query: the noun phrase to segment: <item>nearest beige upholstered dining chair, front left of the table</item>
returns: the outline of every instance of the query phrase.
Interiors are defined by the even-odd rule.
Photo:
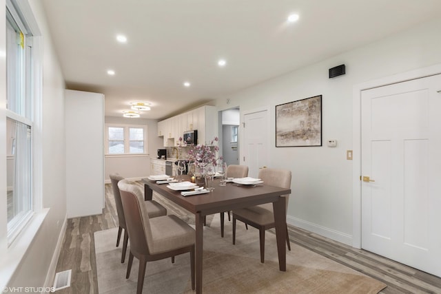
[[[143,292],[145,266],[147,262],[190,253],[190,271],[194,290],[194,242],[196,232],[192,227],[174,215],[150,218],[144,205],[143,191],[136,185],[123,180],[118,183],[125,222],[130,238],[127,274],[130,277],[133,258],[139,260],[138,284],[136,293]]]

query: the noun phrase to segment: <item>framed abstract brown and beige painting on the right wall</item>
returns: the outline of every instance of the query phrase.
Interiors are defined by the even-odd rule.
[[[322,95],[276,105],[276,147],[322,146]]]

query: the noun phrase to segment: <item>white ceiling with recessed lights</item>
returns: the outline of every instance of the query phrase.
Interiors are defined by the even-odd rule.
[[[165,118],[439,17],[440,0],[43,0],[67,87]],[[297,13],[296,23],[286,22]],[[127,43],[116,42],[125,34]],[[218,59],[227,61],[218,67]],[[337,65],[337,64],[336,64]],[[115,70],[114,76],[106,74]],[[183,87],[189,81],[191,87]]]

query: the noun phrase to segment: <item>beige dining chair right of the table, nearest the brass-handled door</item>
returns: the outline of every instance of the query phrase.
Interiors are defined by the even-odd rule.
[[[291,171],[287,169],[260,169],[258,178],[263,180],[266,185],[289,189],[291,187]],[[288,208],[289,194],[283,195],[286,198],[285,218]],[[236,244],[236,220],[245,222],[259,230],[260,235],[260,262],[265,260],[265,231],[275,227],[273,204],[266,203],[254,207],[245,207],[233,210],[233,244]],[[286,227],[286,237],[288,250],[291,251],[289,244],[288,227]]]

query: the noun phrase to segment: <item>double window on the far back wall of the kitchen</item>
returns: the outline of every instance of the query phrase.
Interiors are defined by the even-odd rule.
[[[147,127],[107,125],[107,154],[146,154]]]

